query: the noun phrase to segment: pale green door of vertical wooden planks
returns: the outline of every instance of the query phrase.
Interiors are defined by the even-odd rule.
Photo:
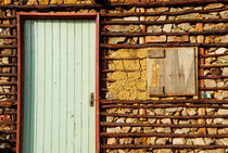
[[[94,153],[96,21],[26,20],[23,153]]]

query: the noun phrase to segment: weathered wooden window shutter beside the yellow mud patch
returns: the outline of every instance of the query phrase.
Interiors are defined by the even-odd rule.
[[[148,50],[150,97],[195,95],[195,48]]]

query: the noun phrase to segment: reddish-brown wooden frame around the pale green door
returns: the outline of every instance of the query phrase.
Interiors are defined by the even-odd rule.
[[[17,13],[17,122],[16,153],[22,153],[23,142],[23,93],[24,93],[24,21],[25,20],[96,20],[96,153],[100,152],[99,110],[99,13]]]

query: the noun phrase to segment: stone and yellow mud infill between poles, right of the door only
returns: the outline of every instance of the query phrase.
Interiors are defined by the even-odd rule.
[[[227,7],[223,3],[207,4],[205,7],[183,7],[183,8],[148,8],[145,12],[182,12],[187,10],[208,10],[208,9],[219,9]],[[122,12],[140,12],[140,9],[132,8],[130,10],[112,10],[110,13],[122,13]],[[210,20],[210,18],[227,18],[228,11],[212,12],[212,13],[189,13],[183,15],[157,15],[157,16],[147,16],[145,21],[177,21],[177,20]],[[140,21],[140,17],[130,16],[124,18],[112,18],[111,21]],[[208,30],[226,30],[228,24],[226,23],[212,23],[203,24],[201,28],[199,23],[180,23],[180,24],[164,24],[164,25],[152,25],[147,26],[145,31],[148,33],[190,33],[190,31],[208,31]],[[141,25],[107,25],[105,30],[110,33],[140,33],[142,31]],[[137,44],[140,43],[139,37],[110,37],[109,43],[111,44]],[[203,41],[199,39],[199,36],[147,36],[145,43],[150,42],[228,42],[228,35],[205,35]],[[109,69],[116,69],[116,72],[107,73],[106,78],[113,80],[114,82],[106,82],[106,95],[107,100],[175,100],[175,99],[199,99],[200,95],[195,97],[165,97],[165,98],[150,98],[148,95],[147,87],[147,50],[145,49],[118,49],[112,50],[109,49],[105,58],[114,59],[126,59],[126,58],[136,58],[137,60],[110,60],[107,61],[106,67]],[[228,53],[227,48],[204,48],[205,54],[219,54]],[[200,55],[200,53],[199,53]],[[205,64],[227,64],[228,55],[218,56],[218,58],[207,58],[204,60]],[[125,71],[135,71],[135,72],[122,72],[118,69]],[[227,66],[225,67],[210,67],[204,68],[204,76],[215,77],[215,76],[227,76]],[[214,88],[214,87],[228,87],[228,79],[205,79],[204,87]],[[227,90],[217,90],[217,91],[204,91],[206,95],[211,99],[216,100],[228,100]],[[203,93],[202,93],[203,94]],[[205,95],[205,94],[204,94]],[[152,103],[151,103],[152,104]],[[122,104],[119,104],[122,105]],[[138,105],[138,103],[135,103]],[[188,105],[188,104],[187,104]],[[189,103],[191,105],[191,103]],[[224,106],[226,104],[223,104]],[[170,116],[198,116],[202,115],[200,107],[172,107],[172,109],[106,109],[107,113],[117,113],[117,114],[131,114],[131,115],[170,115]],[[228,110],[226,109],[205,109],[205,115],[227,115]],[[118,117],[118,116],[106,116],[107,123],[136,123],[136,124],[174,124],[174,125],[197,125],[202,124],[201,119],[154,119],[154,118],[128,118],[128,117]],[[208,125],[226,125],[226,118],[207,118],[205,119]],[[223,135],[228,133],[227,128],[205,128],[205,135]],[[202,133],[201,128],[173,128],[173,127],[107,127],[106,132],[130,132],[130,133],[183,133],[183,135],[195,135]],[[188,145],[227,145],[228,139],[215,139],[215,138],[159,138],[159,137],[141,137],[141,138],[107,138],[107,144],[144,144],[144,145],[160,145],[160,144],[188,144]],[[142,149],[142,150],[107,150],[112,153],[145,153],[145,152],[156,152],[156,153],[172,153],[172,152],[181,152],[181,153],[225,153],[225,150],[188,150],[188,149]]]

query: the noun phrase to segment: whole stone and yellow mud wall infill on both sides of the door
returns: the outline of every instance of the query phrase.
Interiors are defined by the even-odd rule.
[[[152,2],[155,0],[110,0],[110,2]],[[162,1],[162,0],[156,0]],[[169,0],[163,0],[169,1]],[[178,1],[178,0],[177,0]],[[61,3],[93,3],[92,0],[2,0],[1,4],[61,4]],[[227,8],[225,3],[211,3],[202,7],[151,7],[147,8],[145,12],[182,12],[188,10],[210,10],[210,9],[223,9]],[[88,13],[96,12],[97,10],[73,10],[72,13]],[[123,12],[140,12],[140,8],[112,8],[107,10],[107,13],[123,13]],[[35,11],[36,12],[36,11]],[[67,12],[62,10],[61,12]],[[53,12],[52,12],[53,13]],[[1,16],[13,16],[12,10],[0,10]],[[228,18],[228,10],[215,11],[211,13],[187,13],[183,15],[153,15],[147,16],[145,21],[177,21],[177,20],[211,20],[211,18]],[[141,16],[129,16],[129,17],[112,17],[107,18],[109,21],[140,21]],[[1,24],[12,24],[12,20],[2,20]],[[144,29],[142,25],[105,25],[101,29],[106,33],[141,33]],[[191,33],[191,31],[216,31],[216,30],[227,30],[227,23],[210,23],[203,24],[201,29],[201,24],[199,23],[180,23],[180,24],[164,24],[164,25],[149,25],[145,26],[145,33]],[[0,28],[0,35],[13,35],[13,28]],[[228,35],[205,35],[203,37],[203,42],[213,43],[213,42],[228,42]],[[142,37],[102,37],[101,42],[109,44],[138,44]],[[185,36],[144,36],[144,43],[173,43],[173,42],[189,42],[197,43],[201,40],[199,35],[185,35]],[[0,39],[1,46],[13,46],[16,39]],[[165,98],[150,98],[148,95],[147,87],[147,49],[101,49],[101,71],[110,69],[109,73],[101,73],[101,95],[104,100],[192,100],[200,99],[200,95],[194,97],[165,97]],[[200,50],[200,48],[199,48]],[[0,54],[5,56],[0,58],[0,65],[12,63],[12,54],[14,49],[0,49]],[[205,54],[226,54],[228,53],[228,48],[204,48]],[[116,59],[116,60],[102,60],[106,59]],[[126,60],[132,58],[136,60]],[[123,60],[118,60],[123,59]],[[206,65],[216,65],[216,64],[228,64],[228,55],[223,56],[213,56],[206,58],[204,60]],[[116,72],[115,72],[116,69]],[[119,71],[123,69],[123,71]],[[129,72],[124,72],[129,71]],[[8,93],[12,92],[12,86],[3,85],[12,81],[12,67],[0,66],[0,101],[10,101],[11,95]],[[204,76],[206,77],[217,77],[217,76],[228,76],[228,66],[220,67],[206,67],[204,68]],[[112,81],[105,81],[112,80]],[[204,87],[214,88],[214,87],[228,87],[227,78],[219,79],[203,79]],[[5,93],[5,94],[3,94]],[[228,100],[227,90],[213,90],[213,91],[203,91],[206,93],[206,98],[215,100]],[[153,103],[144,104],[150,105]],[[122,107],[125,104],[118,104],[119,107],[107,107],[102,109],[101,112],[104,113],[115,113],[115,114],[128,114],[128,115],[156,115],[156,116],[177,116],[177,118],[140,118],[140,117],[122,117],[122,115],[110,115],[101,116],[101,122],[104,123],[117,123],[117,124],[150,124],[157,125],[154,127],[130,127],[130,126],[116,126],[116,127],[106,127],[101,128],[101,132],[107,133],[178,133],[178,135],[198,135],[202,133],[202,128],[191,128],[191,127],[163,127],[159,125],[198,125],[202,124],[202,119],[194,118],[194,116],[201,115],[201,107],[194,106],[190,102],[185,103],[186,106],[179,107],[162,107],[163,103],[157,104],[155,109],[130,109]],[[129,105],[129,104],[127,104]],[[135,103],[130,105],[141,105],[140,103]],[[154,104],[155,105],[155,104]],[[192,105],[190,107],[189,105]],[[161,109],[159,107],[161,106]],[[228,110],[226,106],[228,104],[213,104],[215,107],[206,107],[204,111],[205,115],[228,115]],[[224,106],[225,109],[216,109],[216,106]],[[101,105],[102,107],[102,105]],[[4,122],[11,122],[12,115],[5,115],[4,112],[15,111],[15,106],[11,107],[0,107],[0,119]],[[181,119],[181,116],[183,118]],[[189,116],[191,119],[185,118]],[[179,117],[179,118],[178,118]],[[207,125],[217,125],[218,128],[203,128],[205,135],[227,135],[228,128],[220,128],[219,125],[228,125],[227,117],[217,117],[217,118],[205,118],[203,120]],[[223,126],[221,126],[223,127]],[[0,125],[0,131],[10,131],[12,126]],[[15,136],[15,135],[14,135]],[[13,135],[9,132],[1,132],[0,140],[9,140],[0,143],[0,149],[11,149],[15,148],[15,142],[10,142],[13,139]],[[168,145],[168,144],[186,144],[186,145],[228,145],[228,138],[168,138],[168,137],[128,137],[128,138],[102,138],[102,144],[134,144],[134,145]],[[226,153],[226,149],[102,149],[104,152],[109,153]]]

